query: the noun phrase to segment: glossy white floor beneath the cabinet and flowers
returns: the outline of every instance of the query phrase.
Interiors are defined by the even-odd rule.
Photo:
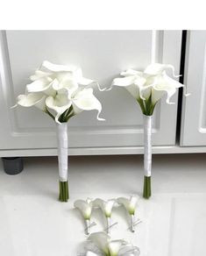
[[[125,238],[144,256],[206,255],[206,154],[153,155],[153,196],[141,197],[143,156],[80,156],[69,160],[68,203],[57,201],[55,157],[24,159],[21,174],[0,163],[0,255],[75,256],[87,236],[76,199],[139,195],[135,233],[124,209],[114,210],[112,238]],[[95,210],[91,231],[103,231]]]

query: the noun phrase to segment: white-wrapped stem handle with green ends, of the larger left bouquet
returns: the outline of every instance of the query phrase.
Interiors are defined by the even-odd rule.
[[[69,198],[67,183],[67,123],[57,124],[60,202]]]

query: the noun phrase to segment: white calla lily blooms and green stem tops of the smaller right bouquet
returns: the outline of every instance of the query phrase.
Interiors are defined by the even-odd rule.
[[[183,87],[180,82],[167,75],[167,69],[171,69],[173,76],[174,67],[160,63],[149,65],[144,72],[128,69],[121,73],[124,77],[115,78],[112,86],[116,85],[127,89],[141,107],[143,113],[147,116],[153,115],[156,103],[164,95],[167,95],[167,103],[171,104],[170,98],[174,96],[176,89]]]

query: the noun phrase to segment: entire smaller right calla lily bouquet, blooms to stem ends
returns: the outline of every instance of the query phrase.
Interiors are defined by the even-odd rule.
[[[177,89],[184,85],[177,82],[167,75],[167,70],[172,71],[174,75],[174,67],[172,65],[153,63],[149,65],[143,72],[128,69],[121,73],[121,78],[115,78],[112,86],[124,87],[129,91],[139,103],[144,115],[144,189],[143,196],[149,198],[151,196],[151,168],[152,168],[152,117],[153,110],[162,96],[167,96],[166,102],[173,104],[170,100],[174,96]],[[188,96],[188,95],[187,95]]]

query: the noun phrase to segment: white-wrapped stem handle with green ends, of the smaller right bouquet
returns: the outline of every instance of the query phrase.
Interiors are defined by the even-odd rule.
[[[144,115],[144,188],[143,197],[151,196],[151,168],[152,168],[152,116]]]

